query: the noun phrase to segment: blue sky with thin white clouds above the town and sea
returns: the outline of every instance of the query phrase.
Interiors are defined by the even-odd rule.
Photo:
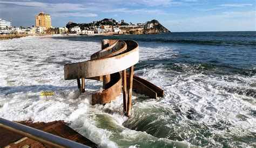
[[[0,0],[0,18],[12,26],[35,25],[41,11],[51,15],[53,27],[113,18],[135,24],[157,19],[173,32],[256,30],[255,0]]]

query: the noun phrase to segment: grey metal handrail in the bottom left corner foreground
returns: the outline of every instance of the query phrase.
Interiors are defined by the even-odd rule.
[[[4,118],[0,118],[0,127],[54,147],[89,147]]]

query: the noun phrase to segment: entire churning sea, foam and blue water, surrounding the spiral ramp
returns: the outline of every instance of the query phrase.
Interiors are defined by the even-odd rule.
[[[134,74],[165,90],[154,100],[133,92],[91,105],[102,82],[64,80],[63,65],[90,59],[102,39],[132,39]],[[123,36],[48,36],[0,40],[0,117],[64,120],[102,147],[255,147],[256,32],[180,32]],[[52,97],[41,91],[55,91]]]

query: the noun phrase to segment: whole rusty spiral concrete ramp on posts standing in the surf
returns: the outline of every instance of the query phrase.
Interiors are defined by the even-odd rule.
[[[134,40],[102,40],[102,50],[91,55],[91,60],[64,65],[64,79],[77,79],[84,92],[84,79],[103,81],[103,91],[92,95],[93,104],[105,104],[120,95],[123,86],[124,112],[131,114],[132,88],[152,98],[164,95],[164,90],[138,76],[133,77],[133,66],[139,61],[138,43]],[[126,75],[126,69],[130,74]],[[126,83],[127,81],[127,83]],[[128,93],[126,91],[128,87]],[[127,99],[128,98],[128,99]]]

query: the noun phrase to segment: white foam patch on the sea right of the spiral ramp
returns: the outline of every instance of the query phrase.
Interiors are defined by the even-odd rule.
[[[187,72],[187,74],[176,75],[177,72],[162,71],[158,68],[140,69],[139,73],[143,73],[145,79],[165,89],[164,99],[162,98],[157,104],[163,105],[166,108],[178,107],[181,114],[184,115],[184,119],[187,118],[186,115],[190,114],[192,110],[192,118],[197,124],[211,127],[220,123],[226,126],[224,130],[212,128],[212,133],[221,135],[221,137],[225,137],[227,134],[252,136],[251,132],[256,131],[256,119],[255,115],[253,115],[255,114],[253,111],[256,109],[255,96],[236,93],[239,90],[255,90],[256,88],[253,86],[256,82],[255,76],[224,76],[228,77],[228,79],[237,80],[230,81],[223,76],[211,76],[200,73],[190,74],[190,72]],[[236,91],[229,92],[229,89]],[[146,105],[141,103],[139,107],[142,107],[142,104]],[[146,106],[145,108],[150,107]],[[178,129],[180,125],[173,126]],[[191,131],[186,130],[185,135],[187,133],[193,135],[193,129]],[[192,141],[189,140],[190,143]],[[213,139],[211,141],[216,146],[221,146],[220,143],[215,142]],[[230,143],[235,142],[231,139]],[[245,145],[245,143],[241,143],[240,146]],[[230,144],[229,146],[235,145]]]

